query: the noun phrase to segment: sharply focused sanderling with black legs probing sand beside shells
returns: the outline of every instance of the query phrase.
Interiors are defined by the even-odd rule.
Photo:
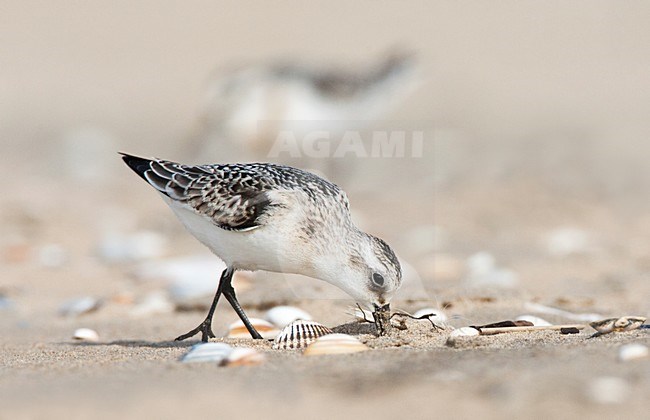
[[[231,285],[235,270],[302,274],[343,289],[374,308],[377,329],[389,326],[390,299],[402,272],[383,240],[359,230],[345,192],[300,169],[269,163],[189,166],[122,154],[161,193],[176,216],[227,268],[205,320],[176,338],[214,337],[212,317],[223,294],[253,338]]]

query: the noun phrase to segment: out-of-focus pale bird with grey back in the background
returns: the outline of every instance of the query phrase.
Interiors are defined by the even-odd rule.
[[[417,82],[415,56],[403,50],[363,69],[285,62],[222,70],[207,86],[193,146],[201,155],[232,146],[247,156],[266,157],[280,131],[362,129],[394,108]]]

